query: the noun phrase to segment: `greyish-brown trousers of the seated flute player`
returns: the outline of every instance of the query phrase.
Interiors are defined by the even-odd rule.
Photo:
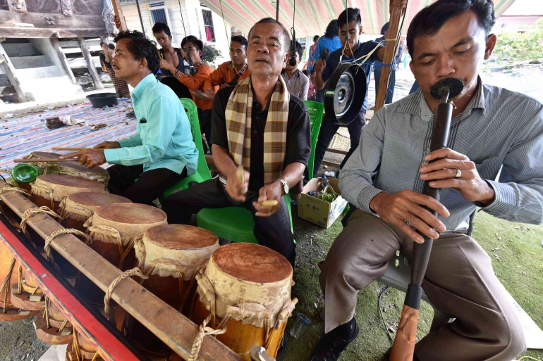
[[[355,210],[319,265],[325,332],[353,318],[358,291],[383,276],[398,249],[410,256],[413,241],[379,217]],[[434,241],[422,288],[434,307],[456,319],[417,343],[420,360],[512,360],[525,350],[508,293],[470,236],[446,232]]]

